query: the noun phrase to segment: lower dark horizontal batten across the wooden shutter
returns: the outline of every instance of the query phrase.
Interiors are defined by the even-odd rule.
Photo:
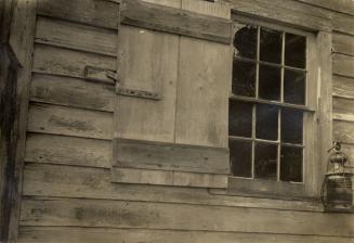
[[[114,140],[114,166],[189,172],[230,172],[228,150],[131,139]]]

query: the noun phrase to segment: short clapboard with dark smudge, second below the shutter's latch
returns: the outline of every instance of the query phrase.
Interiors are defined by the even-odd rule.
[[[113,138],[113,114],[65,106],[32,103],[28,131],[73,137]]]

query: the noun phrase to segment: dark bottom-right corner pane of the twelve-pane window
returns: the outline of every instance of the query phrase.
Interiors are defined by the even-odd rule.
[[[280,180],[302,182],[302,148],[281,146]]]

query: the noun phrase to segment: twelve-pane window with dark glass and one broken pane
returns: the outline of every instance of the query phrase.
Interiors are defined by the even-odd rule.
[[[234,33],[232,174],[303,182],[307,38],[241,23]]]

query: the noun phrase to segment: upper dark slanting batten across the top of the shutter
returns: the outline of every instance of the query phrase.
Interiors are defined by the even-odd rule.
[[[123,0],[121,2],[120,22],[126,25],[227,44],[232,40],[231,20],[140,0]]]

